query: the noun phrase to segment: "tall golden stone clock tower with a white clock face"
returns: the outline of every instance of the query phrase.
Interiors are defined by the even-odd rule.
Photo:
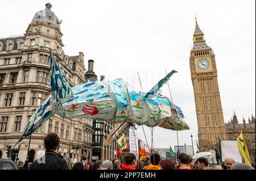
[[[200,151],[216,149],[219,140],[225,140],[225,123],[218,89],[215,55],[200,30],[197,20],[190,53],[190,71],[193,84]]]

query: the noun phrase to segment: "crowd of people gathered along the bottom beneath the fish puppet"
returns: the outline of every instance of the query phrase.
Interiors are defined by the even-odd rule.
[[[29,169],[31,170],[253,170],[255,165],[251,167],[246,163],[235,163],[234,159],[226,158],[222,166],[216,166],[208,163],[206,158],[198,158],[194,160],[190,155],[180,153],[178,161],[171,159],[161,160],[158,153],[151,154],[149,161],[138,160],[133,153],[127,153],[121,158],[113,161],[105,160],[101,162],[96,160],[94,163],[88,163],[86,157],[82,157],[80,162],[75,162],[69,168],[63,156],[57,153],[60,145],[60,139],[55,133],[48,134],[44,138],[44,146],[46,153],[44,162],[41,158],[36,159]],[[39,161],[38,161],[39,160]]]

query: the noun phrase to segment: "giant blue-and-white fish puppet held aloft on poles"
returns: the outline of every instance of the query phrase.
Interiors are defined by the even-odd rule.
[[[87,117],[97,120],[163,127],[175,131],[189,129],[183,120],[181,109],[166,96],[158,93],[172,74],[172,70],[160,80],[149,92],[144,93],[123,81],[87,82],[79,86],[69,86],[51,53],[50,82],[52,96],[36,110],[28,120],[19,141],[34,133],[54,113],[69,119]]]

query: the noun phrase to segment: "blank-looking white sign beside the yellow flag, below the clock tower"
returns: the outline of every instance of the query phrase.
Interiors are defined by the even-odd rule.
[[[237,140],[221,140],[221,159],[224,162],[226,158],[233,158],[235,162],[242,163]]]

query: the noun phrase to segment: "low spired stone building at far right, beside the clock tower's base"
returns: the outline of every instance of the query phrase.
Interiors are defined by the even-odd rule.
[[[253,115],[251,115],[251,119],[248,117],[248,123],[246,123],[243,117],[242,122],[243,123],[238,123],[237,115],[234,112],[233,117],[228,123],[225,123],[226,135],[228,140],[236,140],[242,131],[251,161],[255,161],[255,117]]]

